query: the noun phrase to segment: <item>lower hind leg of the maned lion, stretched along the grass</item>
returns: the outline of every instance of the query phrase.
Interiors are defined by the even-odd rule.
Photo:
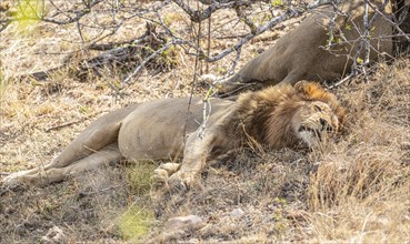
[[[20,185],[43,186],[53,182],[61,182],[67,177],[88,170],[94,170],[111,162],[117,163],[121,157],[120,150],[117,143],[114,143],[64,167],[53,167],[52,164],[48,164],[44,167],[40,166],[29,171],[17,172],[4,177],[2,186],[7,189],[14,189]]]

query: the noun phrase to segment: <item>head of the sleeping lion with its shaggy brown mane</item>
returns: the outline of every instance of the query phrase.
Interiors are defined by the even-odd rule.
[[[340,132],[346,114],[332,93],[307,81],[246,93],[238,103],[247,134],[271,148],[316,148]]]

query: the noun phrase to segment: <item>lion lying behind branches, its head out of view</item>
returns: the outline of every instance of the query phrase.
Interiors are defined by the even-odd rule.
[[[384,11],[391,12],[388,7]],[[338,10],[344,14],[338,16],[332,23],[333,7],[320,7],[273,47],[249,61],[236,74],[222,80],[218,85],[219,92],[229,94],[252,83],[263,87],[294,84],[300,80],[337,81],[349,73],[358,49],[361,49],[361,55],[356,61],[364,60],[364,47],[360,48],[360,35],[364,29],[363,1],[344,1],[338,6]],[[369,8],[369,20],[373,16],[374,11]],[[391,34],[389,20],[377,16],[369,33],[371,61],[392,55]]]

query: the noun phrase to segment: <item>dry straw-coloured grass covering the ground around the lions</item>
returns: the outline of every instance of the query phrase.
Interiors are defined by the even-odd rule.
[[[187,21],[170,12],[176,26]],[[143,32],[144,23],[131,27]],[[1,173],[51,161],[104,112],[191,91],[194,60],[178,50],[174,69],[146,70],[122,96],[110,87],[119,79],[112,73],[87,82],[64,72],[46,82],[13,79],[78,50],[69,28],[41,23],[21,30],[16,24],[0,33]],[[127,39],[127,30],[122,33]],[[277,35],[247,45],[239,65]],[[229,44],[214,40],[212,49]],[[230,59],[212,64],[211,72],[229,69]],[[349,125],[321,152],[246,150],[207,167],[186,194],[151,187],[153,162],[110,165],[44,189],[6,192],[0,196],[0,242],[39,242],[53,226],[63,231],[67,243],[159,242],[167,241],[161,230],[169,217],[197,214],[203,225],[179,241],[410,243],[410,62],[381,63],[367,83],[359,78],[334,92],[349,108]]]

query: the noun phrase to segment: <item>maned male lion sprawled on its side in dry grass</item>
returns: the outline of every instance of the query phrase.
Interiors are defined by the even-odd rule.
[[[317,148],[343,124],[344,108],[319,84],[271,87],[236,101],[173,98],[132,104],[92,122],[51,163],[8,175],[2,185],[43,186],[121,160],[173,160],[154,172],[171,185],[192,186],[207,161],[258,143],[267,149]],[[189,108],[189,111],[187,111]]]

